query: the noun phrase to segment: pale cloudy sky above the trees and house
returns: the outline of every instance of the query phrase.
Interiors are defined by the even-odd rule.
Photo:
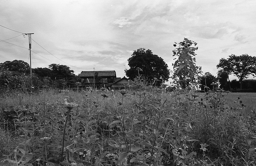
[[[188,38],[198,43],[196,65],[216,76],[221,58],[256,56],[255,13],[256,0],[2,0],[0,63],[30,64],[24,34],[34,33],[32,68],[62,64],[76,75],[115,70],[122,78],[138,48],[172,70],[173,44]]]

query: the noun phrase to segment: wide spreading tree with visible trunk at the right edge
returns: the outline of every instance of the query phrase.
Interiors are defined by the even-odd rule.
[[[248,78],[251,74],[256,76],[256,57],[249,56],[248,54],[240,56],[231,54],[227,59],[221,58],[217,68],[221,68],[228,75],[234,74],[237,76],[240,82],[240,89],[242,89],[242,81],[245,78]]]

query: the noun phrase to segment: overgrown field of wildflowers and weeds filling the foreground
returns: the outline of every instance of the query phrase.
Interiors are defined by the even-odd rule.
[[[3,94],[0,160],[20,166],[255,166],[255,101],[255,93],[152,87]]]

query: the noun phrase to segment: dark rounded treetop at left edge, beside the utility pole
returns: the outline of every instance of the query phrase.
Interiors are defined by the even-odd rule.
[[[4,63],[0,63],[0,68],[22,74],[30,73],[29,64],[23,60],[5,61]]]

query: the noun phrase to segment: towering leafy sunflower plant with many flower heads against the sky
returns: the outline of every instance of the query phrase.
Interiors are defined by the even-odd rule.
[[[192,46],[194,44],[194,46]],[[176,47],[178,45],[178,47]],[[201,72],[201,67],[196,66],[196,56],[195,51],[198,49],[196,47],[197,43],[184,38],[182,42],[173,44],[176,47],[173,52],[173,56],[178,56],[174,64],[172,64],[174,69],[173,78],[178,80],[179,84],[186,88],[190,85],[197,85],[198,74]]]

